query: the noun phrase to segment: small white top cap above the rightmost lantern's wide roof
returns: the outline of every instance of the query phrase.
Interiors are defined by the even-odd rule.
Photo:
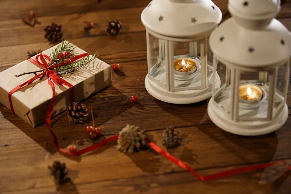
[[[229,0],[228,10],[232,15],[245,18],[260,18],[271,15],[274,18],[280,11],[278,0]]]

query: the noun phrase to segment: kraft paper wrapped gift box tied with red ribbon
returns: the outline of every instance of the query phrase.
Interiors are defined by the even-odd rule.
[[[56,47],[57,45],[43,51],[42,54],[50,56]],[[75,46],[74,53],[83,54],[86,52]],[[35,58],[36,56],[32,57],[32,59]],[[20,77],[15,77],[15,75],[41,69],[43,67],[25,60],[2,71],[0,73],[0,102],[10,108],[8,93],[13,88],[34,77],[34,74],[22,75]],[[111,66],[95,58],[81,69],[62,75],[62,78],[74,86],[75,101],[79,102],[112,84]],[[52,116],[66,110],[71,103],[69,87],[55,83],[54,86],[56,95]],[[12,104],[15,114],[33,127],[37,127],[45,122],[51,98],[52,88],[48,83],[47,77],[44,77],[42,80],[37,79],[32,84],[13,93]]]

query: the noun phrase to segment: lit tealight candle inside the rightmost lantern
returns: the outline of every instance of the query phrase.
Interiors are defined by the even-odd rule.
[[[240,102],[256,103],[262,99],[263,91],[256,85],[245,84],[239,88]]]

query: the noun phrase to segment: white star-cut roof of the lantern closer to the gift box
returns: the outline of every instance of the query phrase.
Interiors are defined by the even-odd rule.
[[[211,0],[152,0],[141,13],[147,29],[168,37],[208,36],[221,19]]]

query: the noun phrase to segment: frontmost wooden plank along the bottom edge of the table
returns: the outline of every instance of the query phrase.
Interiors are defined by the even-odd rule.
[[[228,170],[226,168],[203,170],[202,173],[215,173],[220,170]],[[88,181],[84,184],[67,183],[59,188],[60,192],[77,194],[91,194],[94,192],[102,192],[106,194],[111,193],[169,193],[176,194],[177,192],[183,194],[203,193],[219,194],[229,193],[254,193],[254,194],[288,194],[290,190],[289,172],[285,171],[284,166],[269,168],[265,171],[246,173],[243,175],[224,178],[220,180],[212,180],[200,182],[195,179],[193,175],[183,173],[172,173],[167,175],[136,177],[131,179],[115,179],[105,180],[102,182],[92,183]],[[282,174],[280,176],[280,174]],[[271,179],[271,181],[270,181]],[[27,194],[39,193],[54,193],[54,187],[30,188],[24,190]],[[7,194],[4,192],[3,194]],[[19,192],[9,192],[16,194]]]

